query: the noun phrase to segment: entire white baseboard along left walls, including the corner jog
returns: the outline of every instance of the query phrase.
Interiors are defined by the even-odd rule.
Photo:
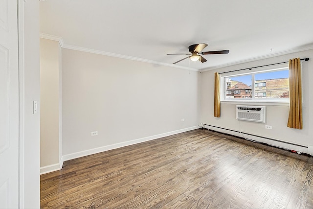
[[[40,174],[45,174],[45,173],[50,173],[53,171],[57,171],[57,170],[61,170],[63,163],[65,161],[68,160],[72,160],[72,159],[76,159],[76,158],[81,158],[81,157],[85,157],[88,155],[92,155],[92,154],[97,154],[100,152],[105,152],[108,150],[112,150],[112,149],[117,149],[120,147],[124,147],[124,146],[129,146],[129,145],[133,145],[133,144],[137,144],[137,143],[141,143],[141,142],[145,142],[145,141],[150,141],[150,140],[154,140],[154,139],[159,139],[162,137],[168,137],[174,134],[179,134],[179,133],[183,133],[186,131],[191,131],[191,130],[195,130],[198,129],[199,126],[192,126],[189,128],[184,128],[184,129],[179,129],[176,131],[171,131],[171,132],[167,132],[167,133],[163,133],[163,134],[157,134],[154,136],[150,136],[150,137],[144,137],[144,138],[140,138],[140,139],[134,139],[134,140],[130,140],[130,141],[125,141],[125,142],[120,142],[120,143],[116,143],[116,144],[110,144],[110,145],[106,145],[106,146],[102,146],[102,147],[97,147],[97,148],[93,148],[93,149],[89,149],[89,150],[83,150],[80,152],[75,152],[75,153],[71,153],[71,154],[67,154],[67,155],[63,155],[60,159],[60,163],[56,163],[56,164],[52,164],[52,165],[47,165],[47,166],[43,166],[40,168]]]

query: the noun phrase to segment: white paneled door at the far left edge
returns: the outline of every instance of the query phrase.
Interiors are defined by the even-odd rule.
[[[17,0],[0,0],[0,209],[19,207]]]

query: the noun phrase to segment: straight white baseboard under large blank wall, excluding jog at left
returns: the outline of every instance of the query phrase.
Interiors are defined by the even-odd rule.
[[[133,145],[133,144],[137,144],[137,143],[141,143],[141,142],[145,142],[145,141],[150,141],[153,139],[159,139],[162,137],[167,137],[167,136],[171,136],[174,134],[179,134],[179,133],[186,132],[186,131],[195,130],[198,128],[199,128],[199,126],[192,126],[189,128],[184,128],[184,129],[180,129],[177,131],[171,131],[171,132],[167,132],[164,134],[158,134],[158,135],[154,135],[154,136],[150,136],[150,137],[144,137],[144,138],[140,138],[140,139],[134,139],[134,140],[120,142],[120,143],[111,144],[111,145],[107,145],[107,146],[97,147],[97,148],[93,148],[93,149],[89,149],[89,150],[83,150],[80,152],[75,152],[75,153],[64,155],[63,160],[68,161],[68,160],[72,160],[75,158],[80,158],[80,157],[96,154],[99,152],[104,152],[104,151],[117,149],[117,148],[124,147],[124,146],[129,146],[129,145]]]

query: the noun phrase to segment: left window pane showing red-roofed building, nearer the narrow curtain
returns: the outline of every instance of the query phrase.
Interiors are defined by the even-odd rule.
[[[227,77],[226,79],[226,99],[251,98],[252,75]]]

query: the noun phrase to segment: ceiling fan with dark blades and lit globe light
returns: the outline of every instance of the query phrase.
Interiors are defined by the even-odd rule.
[[[205,47],[207,46],[207,44],[194,44],[194,45],[190,45],[189,48],[189,52],[188,54],[184,54],[184,55],[191,55],[189,57],[185,57],[173,64],[176,64],[180,61],[183,61],[184,59],[190,58],[192,61],[197,61],[200,60],[202,63],[206,62],[207,60],[204,59],[204,57],[202,57],[201,55],[205,55],[205,54],[228,54],[229,50],[221,50],[221,51],[203,51],[201,52]],[[167,54],[167,55],[178,55],[178,54]]]

